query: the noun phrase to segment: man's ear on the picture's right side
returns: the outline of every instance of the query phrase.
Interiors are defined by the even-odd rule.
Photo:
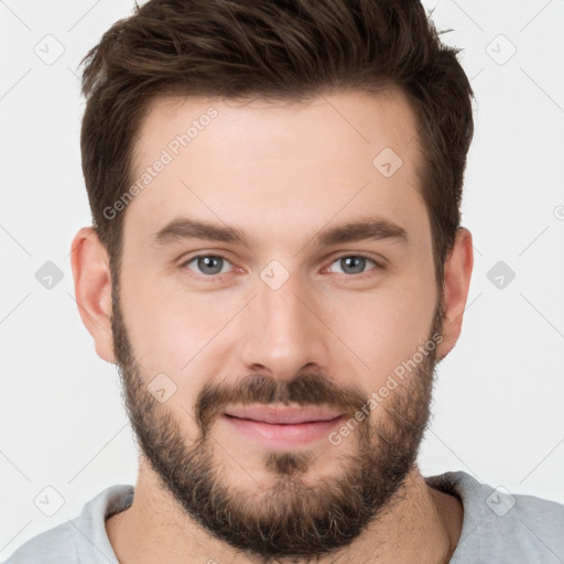
[[[443,340],[437,347],[437,358],[443,359],[456,345],[463,326],[464,310],[474,268],[471,234],[465,227],[456,231],[453,248],[445,261],[443,307]]]

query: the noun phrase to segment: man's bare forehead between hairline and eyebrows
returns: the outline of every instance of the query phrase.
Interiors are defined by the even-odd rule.
[[[296,245],[368,213],[424,231],[417,165],[415,119],[395,89],[302,102],[159,98],[134,143],[124,238],[149,243],[182,215]]]

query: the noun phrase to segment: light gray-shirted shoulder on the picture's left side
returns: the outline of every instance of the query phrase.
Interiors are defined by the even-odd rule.
[[[33,536],[4,564],[117,564],[105,520],[129,507],[132,496],[133,486],[106,488],[84,506],[79,516]]]

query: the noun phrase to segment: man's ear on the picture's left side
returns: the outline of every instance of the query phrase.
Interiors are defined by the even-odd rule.
[[[108,253],[90,227],[73,239],[70,264],[78,313],[94,337],[96,352],[116,364],[111,337],[111,274]]]

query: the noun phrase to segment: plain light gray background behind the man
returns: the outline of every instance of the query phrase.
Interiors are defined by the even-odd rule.
[[[79,319],[69,263],[90,225],[77,65],[132,6],[0,0],[0,560],[135,480],[117,370]],[[444,41],[464,48],[476,94],[463,206],[475,271],[421,468],[564,502],[564,0],[425,6],[454,30]],[[51,290],[35,278],[46,261],[63,273]],[[501,289],[498,261],[516,274]]]

